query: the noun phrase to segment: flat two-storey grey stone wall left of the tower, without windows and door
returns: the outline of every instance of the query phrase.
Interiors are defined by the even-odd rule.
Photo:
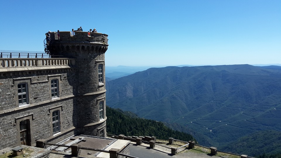
[[[48,78],[59,76],[59,98],[52,99],[49,94]],[[31,145],[34,146],[36,140],[42,138],[55,139],[60,134],[52,135],[52,114],[49,109],[59,107],[61,116],[61,133],[73,131],[77,120],[77,106],[74,87],[74,73],[37,73],[36,75],[18,75],[12,78],[0,77],[0,149],[19,145],[18,142],[18,119],[30,119]],[[16,88],[14,80],[30,80],[29,105],[19,107],[16,103]],[[72,135],[74,132],[72,132]]]

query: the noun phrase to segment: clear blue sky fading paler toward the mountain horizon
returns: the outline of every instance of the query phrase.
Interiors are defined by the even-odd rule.
[[[1,1],[0,50],[43,51],[45,33],[105,33],[106,66],[281,63],[280,0]]]

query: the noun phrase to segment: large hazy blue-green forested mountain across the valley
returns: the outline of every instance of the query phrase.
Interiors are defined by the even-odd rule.
[[[108,106],[179,123],[199,133],[202,145],[281,130],[280,66],[150,68],[111,80],[106,89]]]

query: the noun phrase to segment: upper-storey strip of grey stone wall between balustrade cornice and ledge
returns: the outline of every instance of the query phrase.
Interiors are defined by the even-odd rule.
[[[49,78],[58,77],[59,78],[59,97],[67,97],[76,93],[76,79],[75,79],[75,70],[66,71],[66,72],[53,72],[53,71],[44,71],[44,72],[34,72],[28,73],[25,75],[13,75],[13,76],[0,76],[0,101],[1,106],[0,110],[13,111],[11,108],[18,108],[16,104],[16,94],[17,94],[17,85],[15,81],[25,82],[28,80],[30,83],[29,88],[29,104],[39,105],[46,102],[52,102],[51,95],[49,94]],[[1,112],[0,112],[1,114]]]

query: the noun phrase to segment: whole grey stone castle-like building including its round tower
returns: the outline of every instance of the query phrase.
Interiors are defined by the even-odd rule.
[[[0,58],[0,149],[106,137],[107,35],[51,32],[51,58]],[[38,55],[38,57],[40,57]]]

